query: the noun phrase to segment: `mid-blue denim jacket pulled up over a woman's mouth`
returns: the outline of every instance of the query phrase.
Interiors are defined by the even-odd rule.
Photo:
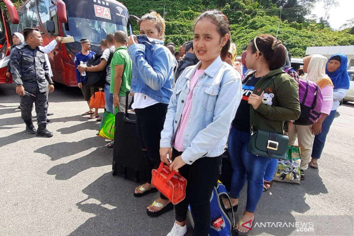
[[[168,104],[172,95],[175,58],[158,39],[137,35],[139,44],[129,46],[133,61],[131,90],[143,93],[158,102]]]

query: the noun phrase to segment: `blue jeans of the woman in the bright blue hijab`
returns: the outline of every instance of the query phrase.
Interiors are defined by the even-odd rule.
[[[330,127],[331,127],[332,122],[336,116],[336,112],[337,112],[337,110],[331,111],[330,115],[327,116],[325,118],[325,120],[322,122],[321,133],[317,134],[315,136],[314,141],[313,141],[311,157],[313,157],[315,159],[320,159],[321,154],[322,154],[322,150],[325,146],[327,134],[330,131]]]

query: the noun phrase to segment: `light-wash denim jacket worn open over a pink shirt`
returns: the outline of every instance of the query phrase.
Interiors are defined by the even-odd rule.
[[[177,80],[161,132],[161,148],[172,148],[190,79],[200,63],[186,68]],[[200,157],[223,154],[241,97],[241,75],[218,57],[199,76],[193,89],[192,110],[183,139],[185,163],[191,165]]]

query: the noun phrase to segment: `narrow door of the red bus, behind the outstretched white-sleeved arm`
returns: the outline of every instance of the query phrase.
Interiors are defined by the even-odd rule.
[[[55,39],[57,36],[60,36],[60,29],[59,29],[59,22],[58,22],[58,15],[57,15],[57,6],[51,6],[49,8],[50,13],[50,21],[47,22],[48,25],[53,25],[54,28],[50,32],[50,36],[52,39]],[[65,74],[64,74],[64,63],[63,63],[63,53],[62,53],[62,44],[57,44],[54,50],[51,52],[53,53],[53,61],[51,62],[52,71],[54,80],[58,82],[64,82]]]

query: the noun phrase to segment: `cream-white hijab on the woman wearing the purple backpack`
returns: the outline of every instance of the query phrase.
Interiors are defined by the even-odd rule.
[[[307,74],[304,75],[303,79],[316,82],[321,78],[328,77],[325,72],[327,61],[327,57],[321,54],[313,54],[307,67]]]

